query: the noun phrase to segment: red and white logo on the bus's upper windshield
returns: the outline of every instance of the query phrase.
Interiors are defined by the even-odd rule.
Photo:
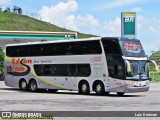
[[[141,52],[141,45],[136,43],[125,43],[124,48],[128,52],[139,53]]]

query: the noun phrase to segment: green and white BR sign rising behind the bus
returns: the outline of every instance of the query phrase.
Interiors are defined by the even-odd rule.
[[[136,13],[121,13],[121,37],[136,38]]]

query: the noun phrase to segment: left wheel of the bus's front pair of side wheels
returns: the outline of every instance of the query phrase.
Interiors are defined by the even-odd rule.
[[[87,81],[83,81],[79,85],[79,93],[88,95],[90,94],[89,84]]]

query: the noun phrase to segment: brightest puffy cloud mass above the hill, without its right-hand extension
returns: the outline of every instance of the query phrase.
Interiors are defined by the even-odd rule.
[[[54,23],[58,26],[65,27],[65,19],[76,11],[78,8],[78,4],[74,0],[68,0],[67,3],[59,2],[55,6],[43,6],[39,11],[39,14],[44,21],[48,21]]]

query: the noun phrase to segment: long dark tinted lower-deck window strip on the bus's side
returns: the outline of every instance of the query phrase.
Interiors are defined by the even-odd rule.
[[[83,76],[91,74],[89,64],[34,65],[38,76]]]

